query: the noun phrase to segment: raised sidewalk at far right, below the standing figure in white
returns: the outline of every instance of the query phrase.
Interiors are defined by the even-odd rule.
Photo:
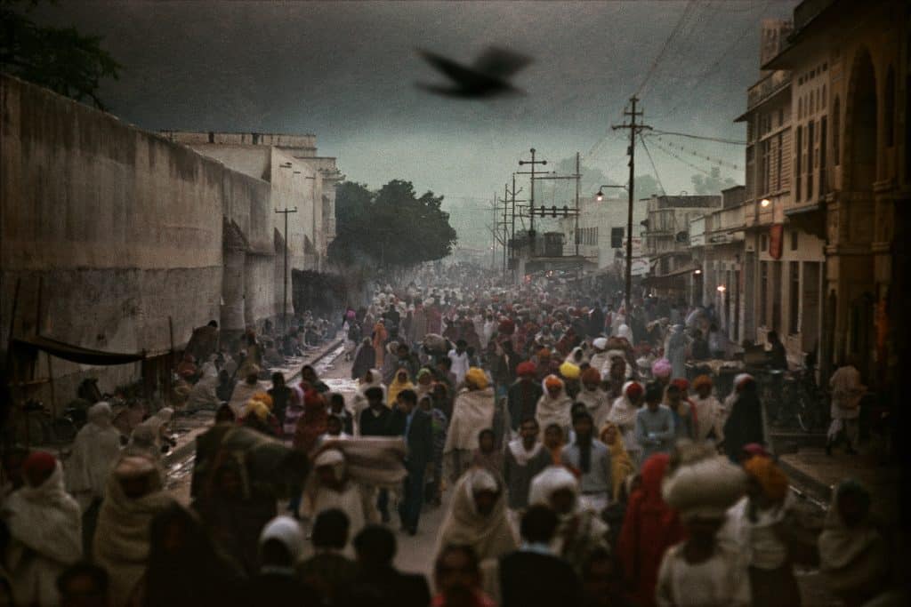
[[[896,464],[879,461],[869,445],[865,445],[858,455],[847,455],[844,450],[835,449],[832,457],[825,454],[825,449],[804,447],[782,455],[779,463],[798,489],[807,491],[826,506],[831,503],[839,482],[844,479],[860,481],[873,496],[873,511],[887,523],[898,521],[901,470]]]

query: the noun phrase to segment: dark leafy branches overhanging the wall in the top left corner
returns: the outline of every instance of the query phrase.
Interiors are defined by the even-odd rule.
[[[101,48],[101,36],[37,25],[29,15],[39,1],[0,0],[0,70],[105,109],[98,87],[103,78],[117,80],[122,66]]]

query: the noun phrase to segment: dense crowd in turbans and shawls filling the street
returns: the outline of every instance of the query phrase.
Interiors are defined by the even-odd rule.
[[[899,604],[869,492],[844,481],[814,525],[769,452],[757,381],[721,394],[710,373],[687,378],[688,361],[732,357],[711,309],[628,311],[461,268],[377,288],[341,322],[347,399],[310,366],[270,387],[248,336],[196,440],[189,506],[155,449],[121,448],[104,403],[67,470],[23,453],[3,494],[5,597],[761,607],[801,604],[796,572],[819,567],[846,605]],[[168,416],[143,422],[153,447]],[[430,508],[438,530],[421,526]],[[435,534],[433,591],[394,567],[420,531]]]

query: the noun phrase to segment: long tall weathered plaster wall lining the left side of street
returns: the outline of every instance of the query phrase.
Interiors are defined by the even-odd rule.
[[[14,336],[37,325],[85,348],[160,354],[172,326],[180,349],[220,319],[223,215],[262,259],[251,265],[268,268],[244,277],[252,318],[274,315],[268,183],[13,77],[0,76],[0,109],[0,350],[17,279]],[[90,373],[111,389],[138,368],[55,359],[57,400],[75,394],[67,378]]]

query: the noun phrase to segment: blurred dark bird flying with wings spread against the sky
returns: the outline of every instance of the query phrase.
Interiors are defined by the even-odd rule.
[[[418,53],[427,63],[452,80],[453,84],[439,86],[417,83],[417,86],[436,95],[463,99],[522,95],[523,91],[512,86],[509,78],[531,63],[531,57],[494,46],[487,48],[477,57],[472,66],[463,66],[445,56],[423,49],[418,49]]]

